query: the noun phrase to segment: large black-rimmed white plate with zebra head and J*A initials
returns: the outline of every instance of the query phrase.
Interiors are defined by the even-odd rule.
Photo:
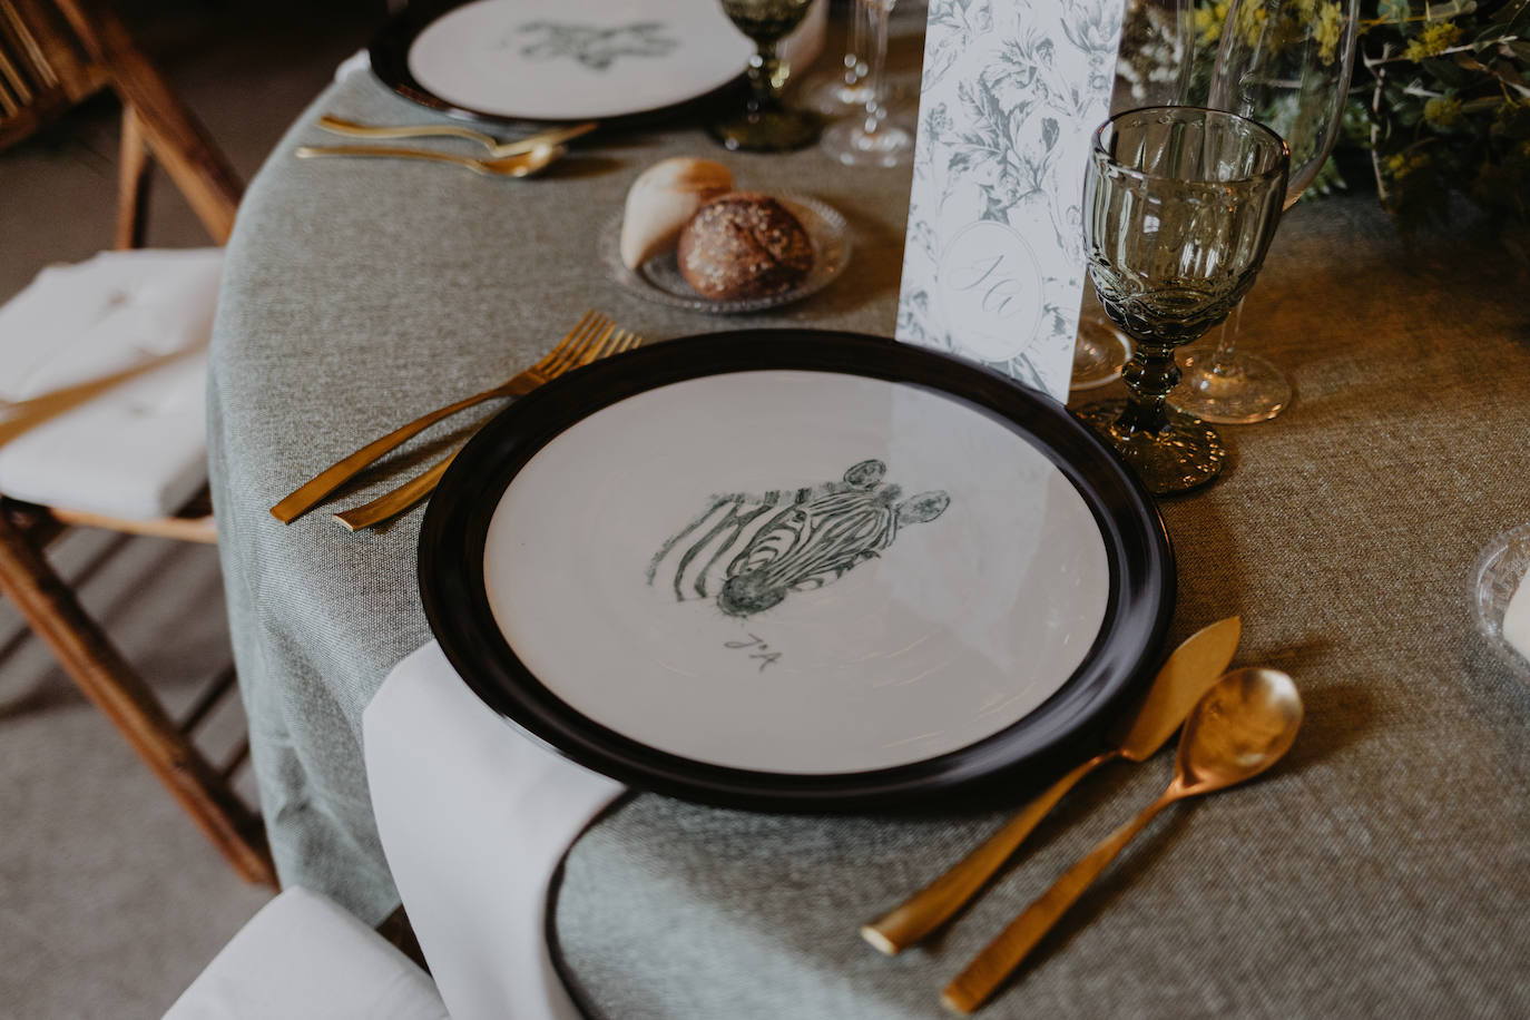
[[[708,803],[910,803],[1092,737],[1175,572],[1066,410],[889,339],[748,330],[493,419],[421,532],[447,658],[592,769]]]

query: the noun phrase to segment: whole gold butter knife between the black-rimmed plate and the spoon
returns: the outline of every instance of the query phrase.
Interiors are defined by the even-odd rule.
[[[1180,728],[1201,694],[1227,671],[1239,636],[1242,621],[1229,616],[1186,638],[1158,670],[1148,696],[1126,731],[1117,737],[1115,746],[1074,768],[944,875],[877,921],[863,925],[861,937],[892,956],[946,924],[1010,859],[1074,783],[1115,759],[1151,759]]]

